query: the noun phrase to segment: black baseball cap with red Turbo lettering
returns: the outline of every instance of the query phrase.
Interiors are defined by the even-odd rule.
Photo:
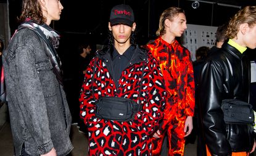
[[[110,13],[110,25],[124,23],[128,26],[133,26],[134,14],[133,9],[125,4],[114,6]]]

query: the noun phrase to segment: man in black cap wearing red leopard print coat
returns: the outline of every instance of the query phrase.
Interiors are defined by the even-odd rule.
[[[88,127],[89,155],[151,155],[150,136],[163,117],[165,87],[157,61],[134,44],[135,28],[130,6],[113,7],[110,44],[96,53],[86,70],[80,108]],[[113,101],[104,103],[109,97]],[[120,99],[132,102],[113,106]],[[117,119],[128,115],[123,113],[129,112],[127,106],[138,109],[127,120]],[[120,110],[125,111],[112,116]]]

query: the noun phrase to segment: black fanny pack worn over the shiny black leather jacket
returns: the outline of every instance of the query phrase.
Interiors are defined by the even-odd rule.
[[[221,109],[225,123],[254,123],[252,104],[239,99],[224,99]]]

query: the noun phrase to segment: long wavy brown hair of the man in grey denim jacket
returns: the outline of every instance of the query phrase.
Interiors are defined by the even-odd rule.
[[[19,17],[19,21],[25,21],[27,18],[35,21],[35,23],[41,25],[46,22],[46,18],[43,16],[43,11],[39,0],[23,0],[22,1],[22,14]]]

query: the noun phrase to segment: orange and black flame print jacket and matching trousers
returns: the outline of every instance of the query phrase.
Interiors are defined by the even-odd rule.
[[[147,45],[149,52],[159,61],[167,89],[162,138],[153,139],[153,155],[160,155],[162,141],[168,136],[168,155],[184,155],[184,122],[194,115],[194,72],[191,55],[178,41],[171,44],[161,37]]]

